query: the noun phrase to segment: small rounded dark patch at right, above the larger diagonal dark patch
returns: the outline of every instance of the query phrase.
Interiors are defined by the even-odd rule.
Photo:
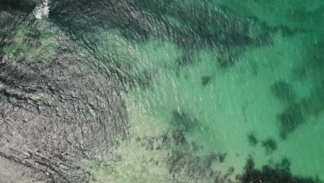
[[[285,104],[294,103],[296,100],[294,89],[291,85],[282,80],[271,85],[271,93]]]

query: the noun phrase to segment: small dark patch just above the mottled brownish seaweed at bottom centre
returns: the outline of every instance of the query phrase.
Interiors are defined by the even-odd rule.
[[[188,132],[197,128],[199,121],[185,112],[174,111],[172,112],[172,124],[178,130]]]

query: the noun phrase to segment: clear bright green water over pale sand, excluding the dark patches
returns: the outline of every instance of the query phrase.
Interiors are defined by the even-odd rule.
[[[196,2],[177,3],[190,8]],[[269,161],[280,162],[287,157],[294,175],[318,176],[323,180],[323,64],[314,60],[323,52],[323,1],[210,1],[206,4],[210,10],[226,7],[242,19],[254,16],[269,26],[287,26],[294,33],[286,35],[285,29],[278,30],[271,35],[273,41],[269,45],[237,48],[240,53],[235,64],[228,68],[217,65],[217,48],[194,49],[190,53],[192,64],[180,69],[177,61],[186,51],[172,42],[152,37],[145,44],[132,43],[124,42],[118,33],[110,35],[123,40],[114,46],[117,49],[114,53],[133,60],[132,73],[153,71],[154,77],[149,87],[131,89],[124,94],[131,131],[129,139],[116,149],[123,160],[112,168],[102,168],[93,162],[86,162],[84,167],[102,182],[172,180],[165,167],[168,150],[146,150],[135,139],[170,132],[174,128],[170,123],[172,112],[184,112],[197,119],[198,124],[186,132],[188,144],[181,150],[201,157],[208,153],[227,153],[222,164],[213,164],[217,171],[225,174],[233,167],[235,173],[240,173],[249,156],[259,168]],[[178,26],[186,24],[172,16],[168,21]],[[109,47],[116,43],[113,40],[111,44],[107,45],[106,41],[103,44]],[[208,83],[203,85],[204,77]],[[271,87],[280,81],[291,87],[295,97],[291,103],[303,99],[309,103],[309,109],[305,109],[309,114],[300,114],[305,116],[305,123],[289,132],[285,140],[280,138],[278,115],[289,108],[292,99],[282,102],[271,92]],[[255,146],[249,143],[249,134],[258,140]],[[267,153],[262,141],[269,138],[276,141],[278,149]],[[198,150],[192,150],[191,143],[199,144]],[[157,161],[161,165],[156,165]],[[177,181],[190,182],[190,179],[184,176]]]

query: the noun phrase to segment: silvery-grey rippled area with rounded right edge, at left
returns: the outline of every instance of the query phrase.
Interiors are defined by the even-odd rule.
[[[126,137],[127,114],[118,85],[71,56],[57,55],[49,68],[2,60],[0,151],[55,179],[82,182],[71,161],[107,158],[116,137]]]

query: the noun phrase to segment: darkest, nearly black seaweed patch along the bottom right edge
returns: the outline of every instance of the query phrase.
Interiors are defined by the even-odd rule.
[[[289,166],[289,161],[283,159],[276,167],[266,165],[261,170],[257,170],[253,159],[250,158],[246,162],[243,175],[238,176],[237,179],[242,183],[321,183],[318,178],[291,175]]]

